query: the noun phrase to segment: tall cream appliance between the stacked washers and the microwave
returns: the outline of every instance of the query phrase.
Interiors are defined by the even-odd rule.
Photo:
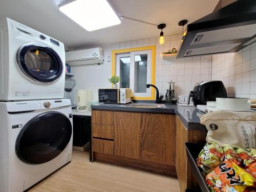
[[[90,101],[92,100],[92,90],[76,90],[77,111],[90,110]]]

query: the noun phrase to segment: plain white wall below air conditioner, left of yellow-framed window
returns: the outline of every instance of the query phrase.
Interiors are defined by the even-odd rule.
[[[111,77],[111,62],[107,57],[111,55],[111,45],[99,46],[103,49],[104,63],[93,66],[72,66],[71,73],[74,74],[76,84],[74,90],[93,90],[93,100],[98,100],[99,88],[111,88],[108,78]],[[76,103],[76,95],[74,103]]]

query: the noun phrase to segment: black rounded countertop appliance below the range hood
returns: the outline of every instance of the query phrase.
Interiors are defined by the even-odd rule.
[[[197,83],[193,91],[188,94],[187,104],[190,97],[194,105],[206,104],[207,101],[216,101],[217,97],[227,98],[227,91],[222,81],[208,81]]]

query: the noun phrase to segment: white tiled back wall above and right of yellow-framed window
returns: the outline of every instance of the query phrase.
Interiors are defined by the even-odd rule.
[[[211,56],[189,57],[181,59],[163,59],[160,53],[178,48],[182,34],[164,37],[160,45],[157,38],[118,42],[112,44],[112,50],[156,45],[156,86],[161,95],[165,95],[167,82],[176,82],[176,95],[188,95],[199,81],[211,80]]]

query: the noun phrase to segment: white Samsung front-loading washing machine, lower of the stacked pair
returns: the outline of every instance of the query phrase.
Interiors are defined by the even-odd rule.
[[[20,192],[72,158],[69,99],[0,102],[0,192]]]

